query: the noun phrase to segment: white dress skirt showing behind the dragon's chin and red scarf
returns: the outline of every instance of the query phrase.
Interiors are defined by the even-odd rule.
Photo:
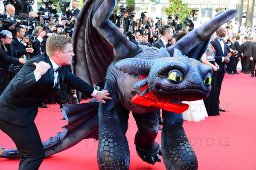
[[[182,102],[189,105],[189,109],[183,112],[183,119],[188,122],[200,122],[208,117],[207,111],[204,106],[203,100],[197,100],[192,102]]]

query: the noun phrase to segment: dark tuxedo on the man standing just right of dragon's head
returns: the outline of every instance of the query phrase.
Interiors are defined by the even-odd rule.
[[[224,51],[222,50],[221,43],[224,44]],[[221,94],[221,84],[225,76],[226,72],[226,64],[224,62],[223,57],[227,56],[227,43],[223,40],[220,41],[218,38],[215,38],[211,44],[215,49],[215,62],[219,65],[219,69],[216,71],[216,77],[218,82],[218,104],[220,104],[220,94]],[[222,61],[223,60],[223,61]]]

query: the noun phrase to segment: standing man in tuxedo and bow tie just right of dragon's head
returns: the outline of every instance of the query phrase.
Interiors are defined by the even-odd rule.
[[[225,28],[220,27],[216,31],[216,34],[217,34],[217,37],[211,42],[211,44],[214,47],[216,52],[215,62],[219,65],[219,69],[216,71],[216,74],[217,74],[217,82],[218,82],[218,103],[220,104],[221,84],[226,72],[225,63],[229,62],[229,57],[227,57],[227,43],[223,40],[223,37],[226,36]],[[225,110],[219,107],[219,111],[225,111]]]

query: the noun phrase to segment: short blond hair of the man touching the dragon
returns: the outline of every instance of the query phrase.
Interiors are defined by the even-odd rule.
[[[46,54],[51,57],[56,51],[64,51],[66,44],[72,44],[71,37],[65,35],[53,35],[47,39]]]

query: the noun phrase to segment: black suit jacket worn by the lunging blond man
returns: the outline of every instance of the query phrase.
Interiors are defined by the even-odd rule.
[[[51,68],[41,79],[35,80],[35,65],[33,62],[44,61],[51,65]],[[93,87],[61,67],[60,84],[65,83],[86,95],[93,93]],[[54,74],[52,63],[44,53],[30,59],[23,68],[15,75],[6,90],[0,96],[0,118],[20,126],[28,126],[34,122],[38,113],[38,106],[42,99],[55,91]]]

